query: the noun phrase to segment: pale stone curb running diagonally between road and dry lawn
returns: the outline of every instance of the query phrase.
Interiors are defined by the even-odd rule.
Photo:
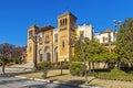
[[[64,82],[64,81],[53,81],[53,80],[49,80],[49,79],[28,78],[28,77],[23,77],[23,76],[14,76],[14,77],[22,78],[22,79],[31,79],[31,80],[37,80],[37,81],[42,81],[42,82],[48,82],[48,84],[65,85],[65,86],[71,86],[71,87],[101,88],[101,87],[91,87],[91,86],[86,86],[86,85],[70,84],[70,82]]]

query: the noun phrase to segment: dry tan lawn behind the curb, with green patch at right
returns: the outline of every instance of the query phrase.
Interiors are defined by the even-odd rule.
[[[63,75],[60,75],[61,70],[50,70],[48,73],[47,79],[50,80],[58,80],[58,81],[65,81],[65,82],[74,82],[74,84],[84,84],[84,77],[78,77],[78,76],[71,76],[69,69],[63,69]],[[114,72],[100,72],[100,76],[105,77],[114,77],[116,74],[113,74]],[[116,72],[115,72],[116,73]],[[29,78],[43,78],[43,73],[29,73],[29,74],[22,74],[20,76],[29,77]],[[117,77],[120,74],[115,77]],[[121,77],[123,75],[126,76],[126,73],[121,73]],[[129,76],[129,75],[127,75]],[[133,76],[132,76],[133,77]],[[106,79],[99,79],[94,78],[93,76],[88,76],[89,79],[89,86],[100,86],[101,88],[133,88],[133,81],[116,81],[116,80],[106,80]]]

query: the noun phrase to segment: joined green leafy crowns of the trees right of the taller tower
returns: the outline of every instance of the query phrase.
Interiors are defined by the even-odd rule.
[[[84,38],[84,41],[75,42],[73,62],[83,62],[83,54],[88,62],[104,62],[103,53],[106,48],[96,41]]]

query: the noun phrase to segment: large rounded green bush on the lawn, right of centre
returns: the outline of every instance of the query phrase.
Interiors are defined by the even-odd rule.
[[[72,63],[70,65],[70,74],[72,76],[84,76],[84,72],[85,72],[84,65],[81,63]]]

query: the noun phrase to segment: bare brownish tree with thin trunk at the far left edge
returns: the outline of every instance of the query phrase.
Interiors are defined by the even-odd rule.
[[[0,44],[0,59],[2,61],[2,74],[4,74],[4,67],[7,61],[11,57],[13,45],[3,43]]]

